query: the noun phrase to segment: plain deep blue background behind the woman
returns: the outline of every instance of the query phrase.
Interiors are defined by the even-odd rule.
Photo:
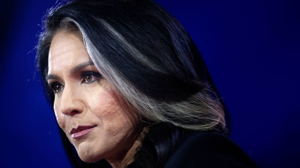
[[[156,2],[202,53],[230,111],[230,138],[260,167],[298,167],[299,1]],[[2,2],[1,167],[71,167],[34,77],[36,35],[54,3]]]

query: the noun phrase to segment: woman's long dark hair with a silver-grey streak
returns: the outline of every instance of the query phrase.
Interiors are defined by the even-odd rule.
[[[99,73],[152,125],[134,164],[164,165],[185,131],[228,135],[227,110],[200,52],[183,26],[157,3],[74,0],[50,8],[39,34],[37,67],[52,105],[46,75],[51,40],[58,32],[78,33]],[[78,164],[68,138],[60,133],[70,161]],[[81,162],[82,167],[91,164]]]

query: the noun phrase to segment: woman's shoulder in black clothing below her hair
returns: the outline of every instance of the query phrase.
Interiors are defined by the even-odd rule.
[[[186,134],[165,167],[257,167],[231,139],[219,133]]]

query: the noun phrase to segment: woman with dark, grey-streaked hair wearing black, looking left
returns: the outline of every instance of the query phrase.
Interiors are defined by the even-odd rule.
[[[76,167],[256,167],[222,135],[225,107],[192,39],[151,0],[52,8],[37,59]]]

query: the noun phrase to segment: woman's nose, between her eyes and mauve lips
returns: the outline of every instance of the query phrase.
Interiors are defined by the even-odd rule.
[[[60,106],[61,112],[65,115],[73,116],[83,112],[80,95],[78,95],[76,88],[64,87]]]

